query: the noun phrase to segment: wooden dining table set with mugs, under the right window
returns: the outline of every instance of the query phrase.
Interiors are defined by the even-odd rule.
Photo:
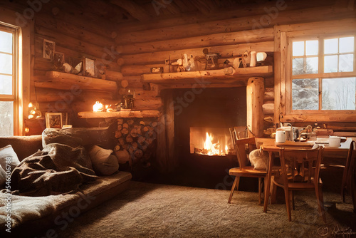
[[[265,180],[264,187],[264,204],[263,212],[267,212],[268,200],[270,197],[271,190],[271,177],[273,170],[273,153],[280,152],[281,148],[313,148],[315,143],[324,147],[323,157],[324,156],[337,156],[342,158],[347,157],[347,152],[350,148],[350,143],[352,140],[356,141],[356,138],[342,138],[339,147],[331,147],[328,144],[328,138],[320,137],[316,140],[308,140],[305,142],[295,142],[286,140],[285,143],[276,143],[274,138],[256,138],[257,148],[262,148],[262,150],[268,152],[268,166],[267,166],[267,175]],[[342,161],[344,162],[344,161]],[[341,162],[340,162],[341,164]]]

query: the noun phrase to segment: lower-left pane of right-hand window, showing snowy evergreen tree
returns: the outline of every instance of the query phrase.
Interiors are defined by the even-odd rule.
[[[317,78],[293,79],[293,110],[319,109],[319,81]]]

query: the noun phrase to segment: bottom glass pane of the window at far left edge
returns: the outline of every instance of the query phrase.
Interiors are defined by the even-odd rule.
[[[0,136],[14,135],[14,102],[0,101]]]

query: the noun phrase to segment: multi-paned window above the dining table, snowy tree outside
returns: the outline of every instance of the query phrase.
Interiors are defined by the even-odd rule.
[[[290,38],[292,112],[356,110],[355,36]]]

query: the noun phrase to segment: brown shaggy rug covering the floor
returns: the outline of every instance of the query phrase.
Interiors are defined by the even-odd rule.
[[[51,237],[342,237],[356,231],[352,201],[342,203],[340,194],[324,192],[326,224],[313,192],[296,192],[292,222],[282,202],[263,213],[256,192],[239,191],[231,204],[228,197],[228,190],[132,181],[129,190],[55,227]]]

